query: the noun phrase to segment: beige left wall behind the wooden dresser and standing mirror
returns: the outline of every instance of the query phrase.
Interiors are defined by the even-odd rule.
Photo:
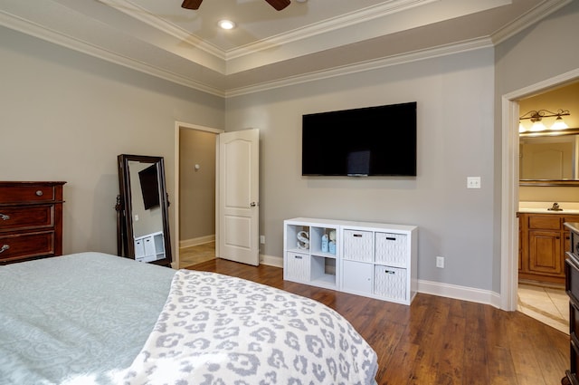
[[[223,127],[221,98],[1,27],[0,58],[0,179],[67,181],[66,254],[116,254],[119,154],[165,157],[171,199],[176,120]]]

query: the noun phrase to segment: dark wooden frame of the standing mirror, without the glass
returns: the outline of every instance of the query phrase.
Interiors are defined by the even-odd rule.
[[[132,221],[132,194],[130,186],[130,173],[128,162],[151,163],[157,165],[157,178],[159,183],[159,207],[163,219],[163,238],[165,244],[165,258],[149,262],[155,265],[171,266],[173,255],[171,253],[171,240],[169,235],[169,199],[166,193],[165,161],[163,157],[151,157],[145,155],[120,154],[119,166],[119,197],[117,197],[117,251],[119,256],[135,259],[135,236]]]

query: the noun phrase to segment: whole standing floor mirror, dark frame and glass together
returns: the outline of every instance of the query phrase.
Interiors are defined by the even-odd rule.
[[[119,155],[119,255],[171,264],[163,158]]]

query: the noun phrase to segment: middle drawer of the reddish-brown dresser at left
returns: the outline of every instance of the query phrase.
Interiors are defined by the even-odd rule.
[[[0,207],[0,233],[54,226],[54,205]]]

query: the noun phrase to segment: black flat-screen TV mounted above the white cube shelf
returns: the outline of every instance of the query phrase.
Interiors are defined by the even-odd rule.
[[[416,176],[416,102],[303,115],[303,176]]]

